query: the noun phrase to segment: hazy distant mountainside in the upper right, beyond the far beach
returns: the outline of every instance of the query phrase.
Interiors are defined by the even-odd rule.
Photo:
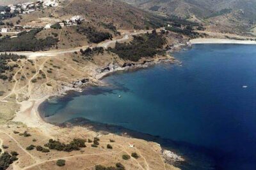
[[[256,23],[255,0],[124,1],[144,10],[200,20],[209,25],[210,30],[218,28],[226,32],[248,31]]]

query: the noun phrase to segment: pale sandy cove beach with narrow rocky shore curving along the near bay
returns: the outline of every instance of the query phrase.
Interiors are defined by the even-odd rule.
[[[152,59],[152,60],[146,62],[145,64],[138,63],[138,64],[134,64],[132,66],[127,66],[127,67],[117,67],[116,69],[111,69],[109,71],[96,74],[94,76],[95,80],[97,80],[96,85],[98,85],[98,86],[104,85],[104,83],[102,83],[101,80],[103,78],[105,78],[106,76],[109,76],[113,73],[117,73],[119,71],[128,71],[128,70],[133,70],[133,69],[143,69],[143,68],[147,68],[150,66],[154,66],[161,62],[174,63],[175,59],[171,56],[157,57],[155,59]],[[92,86],[95,84],[88,83],[86,85]],[[60,127],[50,124],[48,122],[45,122],[45,120],[42,117],[40,110],[39,110],[40,104],[44,103],[44,101],[49,99],[50,97],[63,96],[66,94],[66,92],[68,92],[70,90],[73,90],[76,92],[83,92],[86,89],[86,87],[88,87],[88,86],[83,87],[83,85],[81,85],[81,87],[76,87],[76,88],[63,86],[62,90],[55,92],[52,95],[40,96],[40,97],[37,97],[36,99],[28,99],[28,101],[22,101],[19,103],[20,110],[17,111],[17,113],[12,121],[13,122],[22,122],[23,124],[26,124],[28,127],[41,129],[42,132],[44,132],[45,134],[50,134],[50,136],[53,136],[55,133],[52,134],[52,132],[53,132],[52,130],[54,130],[54,129],[56,130],[56,128],[60,128]]]

